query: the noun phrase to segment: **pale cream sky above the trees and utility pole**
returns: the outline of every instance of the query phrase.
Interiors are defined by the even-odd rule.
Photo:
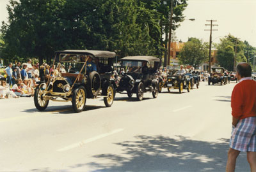
[[[6,4],[8,0],[0,0],[0,21],[7,21]],[[210,29],[209,26],[205,26],[210,22],[206,20],[217,20],[213,22],[218,24],[213,27],[218,31],[212,31],[214,43],[219,43],[220,38],[232,34],[256,47],[255,11],[256,0],[188,0],[188,7],[184,11],[186,20],[177,28],[177,39],[186,42],[188,38],[194,37],[204,42],[209,41],[210,31],[204,29]],[[195,21],[192,22],[189,18],[195,18]]]

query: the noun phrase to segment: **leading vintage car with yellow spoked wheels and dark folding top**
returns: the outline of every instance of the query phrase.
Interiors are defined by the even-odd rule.
[[[71,101],[74,111],[81,112],[85,108],[86,99],[98,97],[104,97],[105,105],[110,107],[115,96],[110,81],[115,56],[115,52],[96,50],[55,52],[52,64],[52,68],[56,66],[54,75],[36,87],[36,108],[40,111],[45,110],[49,101]],[[60,68],[63,67],[67,72],[63,72],[63,69],[61,71]],[[92,68],[94,70],[90,71]]]

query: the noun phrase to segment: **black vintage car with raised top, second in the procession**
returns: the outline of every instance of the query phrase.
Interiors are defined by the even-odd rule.
[[[157,67],[160,59],[152,56],[128,56],[120,59],[121,69],[116,92],[127,92],[128,97],[136,94],[138,101],[143,99],[144,92],[158,94]]]

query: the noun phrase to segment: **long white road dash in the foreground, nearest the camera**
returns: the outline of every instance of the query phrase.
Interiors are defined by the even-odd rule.
[[[115,134],[115,133],[119,133],[121,131],[124,131],[124,129],[116,129],[114,131],[111,131],[110,133],[105,133],[105,134],[100,134],[99,136],[95,136],[94,138],[90,138],[90,139],[87,139],[87,140],[83,140],[83,141],[80,141],[78,143],[74,143],[72,145],[69,145],[67,147],[64,147],[64,148],[60,148],[58,149],[57,151],[58,152],[63,152],[63,151],[66,151],[66,150],[70,150],[72,148],[76,148],[76,147],[82,147],[83,145],[85,145],[86,143],[90,143],[92,141],[95,141],[95,140],[99,140],[100,138],[105,138],[106,136],[110,136],[112,134]]]

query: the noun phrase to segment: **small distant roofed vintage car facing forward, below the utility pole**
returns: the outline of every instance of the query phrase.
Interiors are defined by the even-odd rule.
[[[211,85],[211,83],[212,85],[214,85],[215,83],[220,83],[220,85],[223,85],[223,83],[225,83],[225,68],[212,66],[211,71],[211,76],[208,77],[208,85]]]

